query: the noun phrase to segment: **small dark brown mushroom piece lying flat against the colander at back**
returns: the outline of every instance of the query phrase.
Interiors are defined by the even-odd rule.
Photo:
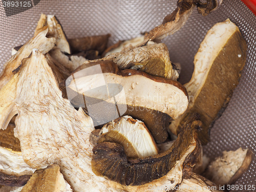
[[[108,45],[110,34],[68,39],[73,53],[96,50],[101,54]]]

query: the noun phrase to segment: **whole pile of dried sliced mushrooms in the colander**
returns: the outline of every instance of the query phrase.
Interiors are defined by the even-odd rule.
[[[160,42],[194,8],[206,16],[221,3],[179,0],[161,25],[109,48],[110,34],[68,39],[54,15],[41,14],[0,77],[0,191],[221,191],[234,183],[252,152],[225,152],[208,165],[201,143],[239,82],[245,40],[229,19],[216,24],[184,85]]]

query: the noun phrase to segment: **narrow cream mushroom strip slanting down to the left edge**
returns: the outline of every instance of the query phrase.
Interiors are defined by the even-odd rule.
[[[33,49],[38,49],[43,54],[50,51],[55,44],[55,38],[47,38],[48,27],[38,30],[38,32],[20,48],[4,65],[4,70],[0,77],[0,89],[12,78],[12,71],[16,69],[22,59],[28,57]]]

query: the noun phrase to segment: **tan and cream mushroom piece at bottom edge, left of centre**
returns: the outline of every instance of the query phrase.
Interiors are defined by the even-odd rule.
[[[69,187],[70,188],[70,187]],[[45,169],[38,169],[30,177],[28,183],[21,192],[59,192],[67,191],[67,186],[63,175],[60,173],[58,165],[48,165]]]

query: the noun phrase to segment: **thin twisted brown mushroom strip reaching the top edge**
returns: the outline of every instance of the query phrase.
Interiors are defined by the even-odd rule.
[[[177,8],[169,15],[165,16],[161,25],[152,29],[145,36],[144,45],[147,41],[153,40],[159,42],[164,37],[177,32],[186,23],[193,9],[197,6],[198,12],[203,16],[216,10],[222,3],[222,0],[207,0],[201,3],[199,0],[178,0]]]

